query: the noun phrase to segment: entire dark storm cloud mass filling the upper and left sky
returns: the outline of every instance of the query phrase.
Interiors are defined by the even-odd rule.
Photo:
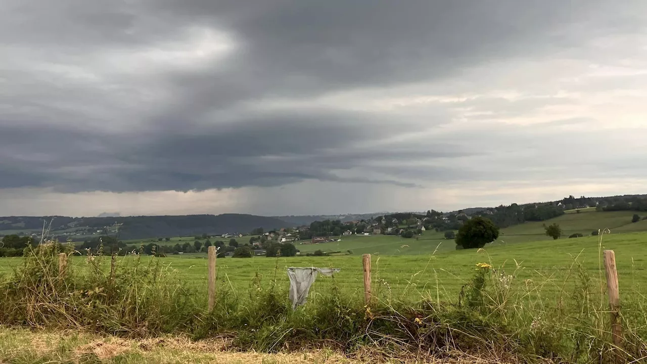
[[[304,179],[413,186],[411,179],[469,178],[447,166],[381,165],[492,153],[463,145],[465,137],[397,138],[448,122],[449,113],[419,122],[300,102],[443,80],[569,47],[580,41],[569,38],[569,25],[587,28],[597,3],[5,0],[0,188],[204,190]],[[165,60],[178,57],[165,47],[190,45],[201,29],[224,34],[232,49],[198,65],[197,51],[186,51],[186,67]],[[272,100],[283,104],[259,106]],[[494,104],[495,115],[514,116],[544,102],[483,98],[465,107]]]

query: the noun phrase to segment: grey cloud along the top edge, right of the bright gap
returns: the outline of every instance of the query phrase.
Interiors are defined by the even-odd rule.
[[[188,19],[230,29],[243,43],[232,67],[173,76],[193,108],[260,95],[304,97],[446,78],[488,60],[552,51],[553,32],[573,14],[564,12],[560,1],[236,4],[168,4]],[[595,3],[571,6],[584,17]]]

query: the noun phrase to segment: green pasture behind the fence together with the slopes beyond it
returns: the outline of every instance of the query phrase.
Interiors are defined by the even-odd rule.
[[[602,245],[616,251],[621,287],[632,286],[642,290],[647,288],[647,277],[643,274],[646,267],[644,259],[647,255],[647,220],[631,223],[632,215],[633,212],[589,211],[565,214],[550,222],[559,223],[566,236],[572,233],[590,234],[594,229],[610,229],[611,234],[604,236]],[[245,236],[238,240],[243,243],[248,239],[249,236]],[[297,242],[296,246],[302,256],[291,258],[220,258],[219,285],[233,288],[235,291],[245,290],[257,273],[265,281],[274,279],[276,275],[280,284],[286,285],[285,268],[289,266],[340,267],[341,273],[334,278],[336,283],[343,290],[360,295],[360,255],[366,253],[373,255],[373,278],[382,282],[380,288],[390,288],[391,294],[403,297],[419,297],[424,293],[455,299],[461,286],[472,277],[474,265],[478,262],[491,262],[493,266],[501,267],[507,274],[512,274],[516,269],[516,260],[523,267],[516,271],[517,279],[542,282],[542,290],[556,291],[560,289],[560,282],[573,273],[569,269],[573,265],[573,258],[578,256],[578,261],[591,277],[600,279],[597,236],[553,240],[543,233],[542,222],[523,223],[502,229],[499,240],[488,244],[485,253],[477,253],[474,249],[456,251],[453,241],[444,239],[443,233],[435,231],[426,231],[422,236],[410,239],[386,235],[342,236],[341,239],[340,242],[322,244]],[[212,238],[212,242],[215,240],[218,239]],[[157,242],[157,239],[154,241]],[[167,244],[185,241],[193,242],[194,238],[173,238]],[[304,256],[318,249],[341,251],[346,255]],[[348,254],[347,251],[352,253]],[[197,290],[206,289],[206,254],[168,256],[159,260]],[[21,258],[3,258],[0,260],[0,272],[6,272],[20,262]],[[82,262],[81,257],[73,260],[73,264],[76,265],[83,265]],[[331,281],[327,278],[318,281],[313,292],[326,290]]]

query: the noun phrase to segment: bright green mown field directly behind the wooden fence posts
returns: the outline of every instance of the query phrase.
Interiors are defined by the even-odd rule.
[[[361,241],[362,238],[364,237],[357,237],[358,241],[354,242],[355,249],[358,251],[362,251],[361,244],[367,244]],[[390,237],[383,238],[386,240]],[[343,242],[342,240],[339,244]],[[415,243],[411,241],[411,244]],[[424,247],[423,244],[430,244],[430,240],[419,240],[417,244],[410,247],[410,249],[416,249],[417,253],[422,249],[428,249],[428,251],[435,249],[434,245]],[[363,249],[366,253],[376,250],[375,247],[368,245]],[[601,269],[604,267],[601,266],[599,256],[601,249],[615,250],[621,291],[631,288],[632,291],[647,292],[647,274],[645,274],[647,233],[605,234],[602,246],[599,245],[596,236],[589,236],[525,244],[499,244],[486,247],[484,251],[450,250],[435,255],[431,253],[399,256],[378,254],[373,255],[373,280],[377,294],[382,297],[420,299],[424,296],[455,301],[461,286],[474,274],[474,266],[479,262],[488,262],[501,272],[505,271],[506,275],[514,275],[519,282],[531,283],[534,293],[544,297],[554,297],[554,294],[564,290],[566,279],[573,279],[577,275],[575,260],[581,264],[591,279],[599,281],[597,284],[602,287],[604,272]],[[84,259],[81,256],[73,258],[72,264],[84,266]],[[119,259],[132,258],[120,257]],[[145,257],[144,259],[159,261],[168,271],[177,275],[195,290],[206,291],[206,255]],[[3,258],[0,272],[8,272],[12,266],[17,266],[20,262],[21,258]],[[107,260],[105,264],[108,264]],[[285,273],[287,267],[311,266],[342,269],[334,279],[322,277],[315,282],[311,291],[313,299],[316,299],[318,292],[329,290],[332,284],[336,284],[348,294],[362,295],[362,258],[356,254],[290,258],[264,256],[219,258],[217,284],[236,294],[250,288],[256,277],[261,280],[261,284],[269,284],[276,279],[279,286],[287,288],[289,284]],[[565,287],[571,287],[572,284],[573,282],[568,282]]]

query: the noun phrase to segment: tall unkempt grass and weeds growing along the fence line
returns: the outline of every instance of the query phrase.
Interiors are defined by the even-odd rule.
[[[625,341],[614,348],[608,308],[598,299],[604,288],[577,256],[565,280],[533,282],[516,278],[523,264],[496,266],[484,255],[487,262],[474,267],[454,301],[441,301],[444,288],[436,282],[435,292],[429,290],[428,282],[417,279],[421,272],[407,287],[419,299],[393,295],[377,271],[376,299],[365,306],[360,297],[342,293],[333,276],[331,290],[296,311],[287,288],[276,285],[277,264],[273,279],[256,275],[247,291],[219,287],[216,308],[207,312],[203,292],[186,288],[157,258],[84,253],[82,264],[71,264],[61,275],[60,253],[81,254],[56,242],[25,249],[23,265],[0,279],[0,324],[123,337],[229,336],[234,348],[263,352],[323,345],[348,352],[369,346],[386,356],[459,350],[498,358],[514,353],[525,361],[606,363],[615,350],[628,363],[647,358],[643,293],[622,297]],[[560,287],[558,295],[542,294],[549,285]]]

